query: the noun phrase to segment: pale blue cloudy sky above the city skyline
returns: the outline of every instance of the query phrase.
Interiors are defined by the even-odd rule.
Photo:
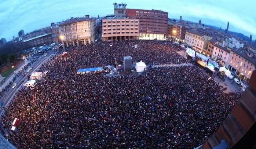
[[[157,9],[169,12],[169,18],[214,25],[241,32],[256,39],[256,0],[0,0],[0,38],[7,41],[25,33],[50,26],[70,17],[89,14],[97,17],[113,14],[113,3],[127,8]]]

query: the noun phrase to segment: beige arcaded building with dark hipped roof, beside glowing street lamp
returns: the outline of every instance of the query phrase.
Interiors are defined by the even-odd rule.
[[[64,45],[87,45],[95,40],[95,19],[76,17],[64,21],[59,25],[60,39]]]

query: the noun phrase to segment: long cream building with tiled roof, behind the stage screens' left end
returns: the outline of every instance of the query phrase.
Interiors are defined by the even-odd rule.
[[[197,31],[189,30],[186,32],[185,42],[193,49],[200,53],[207,53],[208,42],[212,37],[199,33]]]

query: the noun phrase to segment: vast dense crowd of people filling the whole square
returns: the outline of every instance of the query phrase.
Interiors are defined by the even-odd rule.
[[[112,46],[110,46],[110,44]],[[138,44],[137,48],[132,46]],[[122,63],[190,63],[178,47],[160,41],[99,41],[69,47],[41,71],[48,76],[20,90],[1,117],[17,148],[194,148],[222,124],[240,98],[223,93],[194,65],[149,68],[143,75],[78,75],[80,68]],[[5,131],[2,131],[4,133]],[[6,135],[3,135],[6,136]]]

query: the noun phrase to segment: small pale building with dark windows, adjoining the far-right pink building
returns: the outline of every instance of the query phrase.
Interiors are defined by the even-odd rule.
[[[212,59],[218,61],[218,63],[221,64],[222,66],[228,67],[230,50],[231,50],[230,48],[221,47],[215,44],[212,52]]]

